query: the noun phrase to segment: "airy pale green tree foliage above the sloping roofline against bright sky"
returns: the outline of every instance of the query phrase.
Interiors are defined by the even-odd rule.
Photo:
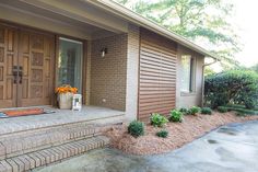
[[[225,0],[117,0],[141,15],[209,48],[227,64],[241,49],[228,18],[233,4]]]

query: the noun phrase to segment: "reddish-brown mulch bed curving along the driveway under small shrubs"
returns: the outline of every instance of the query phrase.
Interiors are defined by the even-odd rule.
[[[183,123],[167,123],[164,127],[169,133],[167,138],[155,136],[156,131],[162,128],[155,128],[151,125],[146,125],[145,135],[139,138],[127,134],[127,125],[115,126],[106,131],[106,135],[110,138],[112,147],[126,153],[156,154],[180,148],[219,126],[255,121],[258,119],[258,116],[238,117],[233,112],[225,114],[213,112],[212,115],[187,115],[184,118]]]

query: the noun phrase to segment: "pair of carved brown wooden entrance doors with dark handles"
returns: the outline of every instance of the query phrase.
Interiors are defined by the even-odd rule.
[[[0,24],[0,108],[49,105],[55,36]]]

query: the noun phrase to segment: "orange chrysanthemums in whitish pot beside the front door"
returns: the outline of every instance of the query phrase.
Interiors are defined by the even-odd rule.
[[[63,84],[56,89],[56,93],[58,94],[58,103],[59,108],[62,110],[71,110],[72,108],[72,96],[78,91],[77,88],[72,88],[69,84]]]

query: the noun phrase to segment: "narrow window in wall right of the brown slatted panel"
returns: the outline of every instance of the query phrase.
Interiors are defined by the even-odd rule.
[[[181,56],[181,92],[194,91],[194,62],[195,59],[190,55]]]

